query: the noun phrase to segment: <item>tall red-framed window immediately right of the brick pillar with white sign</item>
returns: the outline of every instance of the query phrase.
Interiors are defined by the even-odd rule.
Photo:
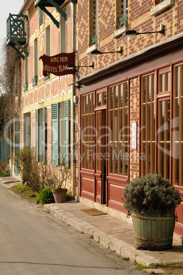
[[[141,174],[155,172],[156,75],[141,82]]]

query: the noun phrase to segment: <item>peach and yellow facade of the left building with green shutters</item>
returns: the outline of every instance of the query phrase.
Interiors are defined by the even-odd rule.
[[[15,25],[25,25],[16,37],[18,40],[21,31],[25,31],[25,51],[19,51],[22,57],[21,126],[16,131],[19,146],[14,147],[14,153],[19,148],[34,147],[36,161],[46,159],[48,164],[59,170],[60,161],[71,150],[69,142],[72,143],[73,89],[70,84],[73,76],[48,74],[45,77],[39,57],[73,51],[73,3],[60,1],[61,12],[55,7],[47,7],[47,14],[36,6],[36,2],[38,1],[24,1],[19,12],[21,16],[13,18]],[[10,28],[12,26],[14,25],[10,24]],[[66,139],[69,142],[66,143]],[[73,169],[72,157],[69,165]],[[13,168],[13,174],[19,174],[16,167]],[[69,190],[73,191],[75,181],[69,179],[67,184]]]

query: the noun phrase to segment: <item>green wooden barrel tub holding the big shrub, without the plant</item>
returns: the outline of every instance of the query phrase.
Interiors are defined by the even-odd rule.
[[[163,250],[172,247],[175,209],[163,211],[132,211],[136,249]]]

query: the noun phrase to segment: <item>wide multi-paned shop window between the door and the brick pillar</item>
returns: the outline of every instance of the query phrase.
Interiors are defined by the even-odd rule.
[[[128,98],[127,82],[109,88],[108,100],[109,161],[108,172],[127,176]]]

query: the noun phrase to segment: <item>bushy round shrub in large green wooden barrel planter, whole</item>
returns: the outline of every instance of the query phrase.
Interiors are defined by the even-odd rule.
[[[136,249],[162,250],[172,247],[175,207],[180,193],[160,174],[137,177],[125,186],[122,202],[132,215]]]

